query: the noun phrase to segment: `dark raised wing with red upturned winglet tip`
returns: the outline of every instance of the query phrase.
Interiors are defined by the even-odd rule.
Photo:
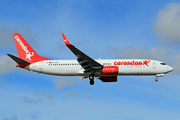
[[[85,69],[85,72],[99,70],[103,68],[103,65],[93,60],[92,58],[84,54],[82,51],[77,49],[75,46],[73,46],[63,33],[62,37],[66,46],[77,56],[77,61]]]

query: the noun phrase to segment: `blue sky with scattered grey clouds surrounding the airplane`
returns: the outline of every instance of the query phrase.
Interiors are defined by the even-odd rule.
[[[178,0],[0,1],[0,119],[179,120],[180,2]],[[76,59],[61,33],[94,59],[161,60],[161,77],[119,76],[117,83],[57,77],[16,68],[19,32],[42,56]]]

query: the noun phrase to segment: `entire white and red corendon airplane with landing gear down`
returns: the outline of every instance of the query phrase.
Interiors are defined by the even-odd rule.
[[[102,82],[117,82],[117,76],[164,76],[173,68],[164,62],[149,59],[92,59],[73,46],[62,33],[65,45],[76,55],[75,60],[53,60],[39,56],[26,40],[19,34],[13,33],[18,57],[7,54],[17,67],[56,76],[80,76],[89,78],[90,85],[97,77]]]

